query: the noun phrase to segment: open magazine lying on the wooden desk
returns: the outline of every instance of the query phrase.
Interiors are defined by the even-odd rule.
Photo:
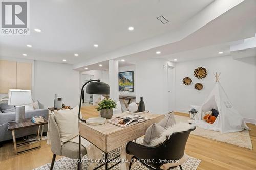
[[[138,124],[140,122],[144,122],[146,120],[149,120],[150,118],[147,117],[143,117],[143,116],[139,116],[139,115],[135,115],[135,114],[131,114],[131,115],[124,115],[124,116],[118,116],[115,117],[111,120],[109,120],[108,122],[120,127],[127,127],[127,126],[131,126],[134,124]]]

